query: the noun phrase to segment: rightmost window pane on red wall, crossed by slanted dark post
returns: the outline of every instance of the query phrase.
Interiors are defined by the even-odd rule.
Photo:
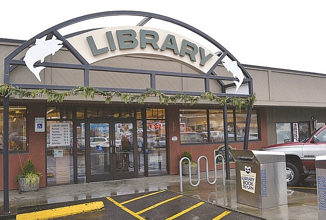
[[[236,118],[236,139],[237,141],[243,141],[245,129],[246,129],[247,111],[241,110],[241,112],[235,112],[235,118]],[[256,110],[253,110],[251,114],[251,121],[250,121],[250,128],[249,128],[249,141],[251,140],[259,140]]]

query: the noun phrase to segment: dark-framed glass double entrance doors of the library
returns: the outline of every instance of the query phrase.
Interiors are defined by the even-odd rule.
[[[133,122],[89,123],[90,181],[135,178]],[[137,161],[136,161],[137,163]]]

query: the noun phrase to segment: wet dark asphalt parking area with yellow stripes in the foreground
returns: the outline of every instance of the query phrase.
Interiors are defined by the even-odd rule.
[[[85,204],[103,202],[102,208],[84,212]],[[98,204],[99,204],[98,203]],[[60,205],[61,204],[61,205]],[[187,197],[172,191],[160,190],[149,193],[129,194],[99,198],[87,201],[64,202],[37,207],[18,209],[17,220],[49,219],[51,215],[60,214],[58,208],[68,207],[66,213],[61,213],[57,220],[96,219],[96,220],[258,220],[259,218],[232,211],[209,202]],[[83,204],[78,214],[69,213],[75,210],[74,205]],[[49,216],[50,215],[50,216]],[[53,217],[54,217],[53,216]]]

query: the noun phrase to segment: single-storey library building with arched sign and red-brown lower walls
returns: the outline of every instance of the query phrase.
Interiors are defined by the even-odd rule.
[[[0,190],[18,189],[29,159],[40,187],[175,175],[186,151],[214,170],[225,146],[258,150],[325,125],[325,75],[241,64],[217,40],[136,11],[0,38]]]

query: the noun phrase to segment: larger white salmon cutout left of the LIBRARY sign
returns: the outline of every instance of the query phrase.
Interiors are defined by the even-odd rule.
[[[36,39],[35,45],[28,49],[25,54],[24,62],[28,69],[34,73],[36,78],[41,82],[41,78],[39,77],[39,73],[45,67],[39,66],[34,67],[34,64],[39,60],[41,63],[44,62],[45,57],[52,54],[54,55],[55,52],[60,50],[63,46],[62,41],[58,39],[49,39],[49,40],[42,40]]]

